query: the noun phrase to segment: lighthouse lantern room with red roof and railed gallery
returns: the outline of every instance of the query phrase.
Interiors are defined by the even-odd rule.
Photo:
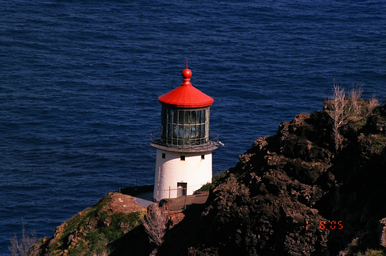
[[[181,86],[158,97],[161,131],[152,134],[153,147],[200,150],[218,146],[209,134],[209,109],[214,100],[190,83],[191,75],[186,68]]]

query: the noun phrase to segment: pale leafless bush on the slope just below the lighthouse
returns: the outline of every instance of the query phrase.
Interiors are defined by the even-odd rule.
[[[157,205],[150,205],[147,207],[146,216],[141,215],[142,224],[149,235],[149,240],[156,243],[157,246],[160,246],[163,242],[168,219],[168,214]]]

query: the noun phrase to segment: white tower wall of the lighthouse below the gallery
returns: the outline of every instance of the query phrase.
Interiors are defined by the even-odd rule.
[[[185,161],[181,156],[185,156]],[[169,191],[165,190],[169,186],[176,189],[179,182],[187,183],[187,195],[193,195],[202,185],[212,182],[212,151],[187,153],[157,149],[154,199],[169,198]],[[170,197],[176,198],[177,193],[171,190]]]

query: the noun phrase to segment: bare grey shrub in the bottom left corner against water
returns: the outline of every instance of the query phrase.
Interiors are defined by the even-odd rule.
[[[23,221],[22,221],[23,222]],[[36,247],[36,234],[26,233],[23,222],[23,230],[21,233],[21,240],[17,238],[16,234],[10,239],[11,246],[8,246],[11,256],[38,256],[39,248]]]

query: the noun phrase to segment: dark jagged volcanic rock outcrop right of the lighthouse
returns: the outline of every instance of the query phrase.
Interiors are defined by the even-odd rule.
[[[338,152],[325,112],[297,115],[275,136],[257,138],[212,184],[196,225],[187,211],[157,255],[327,256],[354,239],[357,252],[378,248],[378,221],[386,217],[384,109],[344,125]],[[189,240],[178,238],[178,227],[190,229]]]

